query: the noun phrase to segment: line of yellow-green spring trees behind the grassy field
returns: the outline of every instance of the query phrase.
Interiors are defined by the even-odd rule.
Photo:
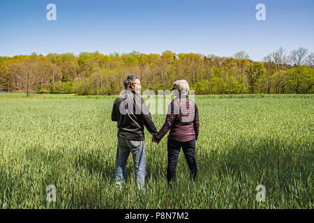
[[[126,75],[141,76],[142,90],[171,89],[186,79],[197,94],[314,93],[314,56],[305,47],[290,54],[280,47],[252,61],[245,52],[214,54],[129,54],[81,52],[0,56],[0,86],[9,92],[112,95]]]

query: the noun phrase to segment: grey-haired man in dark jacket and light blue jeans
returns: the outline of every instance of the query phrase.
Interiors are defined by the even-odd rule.
[[[156,134],[156,127],[143,98],[140,97],[140,76],[130,74],[124,80],[124,93],[114,100],[112,121],[117,121],[118,146],[114,177],[121,189],[126,180],[126,162],[132,153],[135,182],[144,190],[146,174],[144,125],[151,134]]]

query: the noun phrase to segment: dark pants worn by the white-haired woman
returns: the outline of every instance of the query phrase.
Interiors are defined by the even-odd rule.
[[[167,166],[167,181],[168,184],[176,177],[176,168],[180,149],[184,151],[186,162],[188,162],[188,168],[190,169],[190,177],[195,180],[197,175],[197,166],[195,161],[195,138],[191,141],[175,141],[169,139],[168,143],[168,166]]]

